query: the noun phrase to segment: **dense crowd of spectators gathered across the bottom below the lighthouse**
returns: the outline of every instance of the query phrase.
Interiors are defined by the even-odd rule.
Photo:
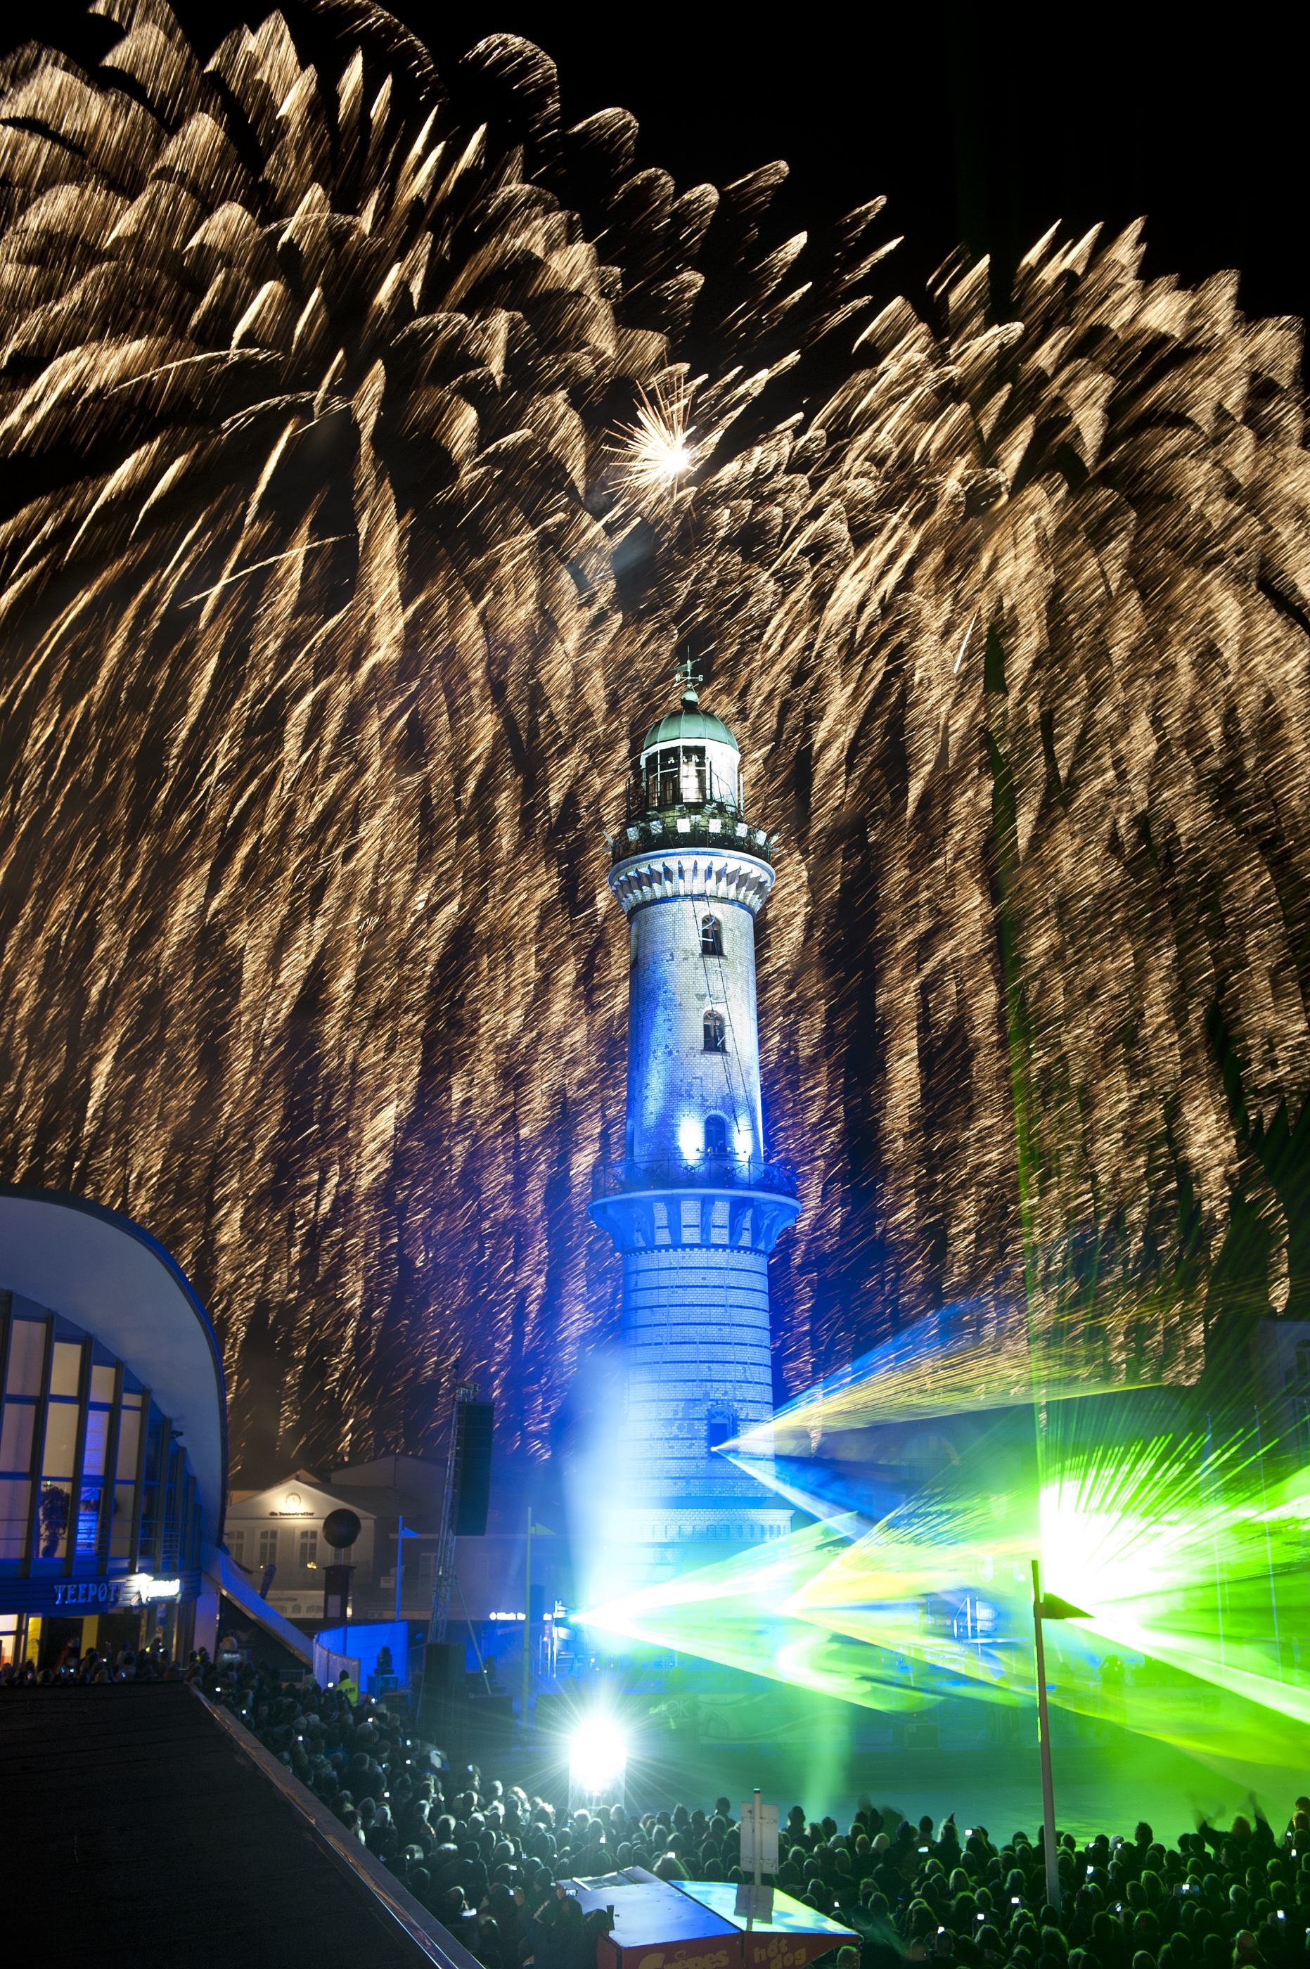
[[[61,1680],[183,1674],[164,1650],[89,1656]],[[87,1672],[91,1666],[91,1672]],[[49,1672],[47,1672],[49,1674]],[[6,1680],[14,1680],[6,1672]],[[22,1678],[18,1678],[22,1680]],[[666,1880],[741,1880],[727,1798],[713,1810],[609,1806],[565,1813],[550,1800],[449,1768],[400,1707],[353,1683],[282,1683],[274,1670],[193,1654],[185,1680],[236,1713],[485,1969],[595,1969],[605,1916],[581,1914],[559,1882],[644,1867]],[[847,1831],[792,1806],[776,1886],[859,1936],[837,1969],[1306,1969],[1310,1798],[1280,1835],[1255,1800],[1227,1831],[1202,1823],[1172,1845],[1058,1835],[1048,1892],[1042,1831],[993,1837],[861,1804]],[[1058,1902],[1058,1904],[1056,1904]]]

